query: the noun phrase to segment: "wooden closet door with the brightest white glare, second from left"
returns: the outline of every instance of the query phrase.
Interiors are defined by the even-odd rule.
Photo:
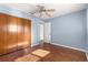
[[[8,17],[8,52],[18,50],[18,24],[16,17]]]

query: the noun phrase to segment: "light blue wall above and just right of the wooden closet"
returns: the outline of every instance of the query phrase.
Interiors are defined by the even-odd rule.
[[[40,19],[4,6],[0,6],[0,13],[7,13],[19,18],[31,19],[31,46],[37,45],[39,43],[39,23],[42,22]]]

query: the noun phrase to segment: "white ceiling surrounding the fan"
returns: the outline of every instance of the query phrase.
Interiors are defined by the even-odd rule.
[[[29,4],[29,3],[0,3],[0,6],[6,6],[9,8],[13,8],[20,11],[23,11],[26,13],[37,11],[37,4]],[[51,18],[63,15],[67,13],[80,11],[87,8],[86,3],[66,3],[66,4],[43,4],[46,9],[55,9],[55,12],[51,12],[50,14],[52,15]],[[36,14],[38,17],[38,14]],[[38,17],[39,18],[39,17]],[[40,18],[40,19],[51,19],[49,17]]]

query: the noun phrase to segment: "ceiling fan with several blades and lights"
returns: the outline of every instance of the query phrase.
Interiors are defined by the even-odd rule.
[[[38,4],[37,8],[38,9],[36,11],[30,12],[30,13],[31,14],[38,13],[39,18],[42,18],[43,15],[51,17],[51,14],[49,12],[56,11],[55,9],[47,9],[45,6],[40,6],[40,4]]]

